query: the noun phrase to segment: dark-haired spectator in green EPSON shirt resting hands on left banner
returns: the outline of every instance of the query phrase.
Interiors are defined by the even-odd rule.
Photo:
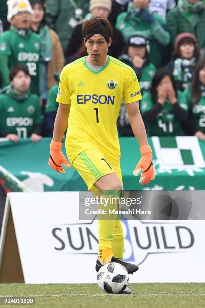
[[[13,142],[31,138],[38,142],[41,137],[42,115],[39,98],[29,91],[31,78],[28,67],[16,64],[10,70],[10,84],[0,94],[0,137]]]

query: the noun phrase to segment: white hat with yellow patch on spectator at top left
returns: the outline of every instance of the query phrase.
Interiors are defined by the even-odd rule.
[[[8,22],[11,21],[14,15],[20,12],[28,12],[30,14],[33,14],[33,10],[28,0],[8,0],[7,6],[8,6],[8,13],[7,13]]]

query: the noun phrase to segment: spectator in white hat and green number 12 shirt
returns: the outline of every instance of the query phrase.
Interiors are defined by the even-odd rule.
[[[9,0],[7,4],[11,27],[0,36],[0,88],[9,84],[9,71],[19,63],[28,66],[31,93],[39,95],[41,42],[30,29],[33,10],[28,0]]]

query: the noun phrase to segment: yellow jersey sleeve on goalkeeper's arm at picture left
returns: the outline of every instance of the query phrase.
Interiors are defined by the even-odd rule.
[[[63,68],[60,74],[60,82],[58,86],[58,94],[56,102],[62,104],[71,104],[70,90],[69,90],[69,74],[66,71],[66,67]]]

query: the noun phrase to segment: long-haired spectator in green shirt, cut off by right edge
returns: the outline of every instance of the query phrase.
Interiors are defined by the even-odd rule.
[[[205,141],[205,59],[196,64],[192,86],[183,92],[181,102],[189,108],[187,133]]]

